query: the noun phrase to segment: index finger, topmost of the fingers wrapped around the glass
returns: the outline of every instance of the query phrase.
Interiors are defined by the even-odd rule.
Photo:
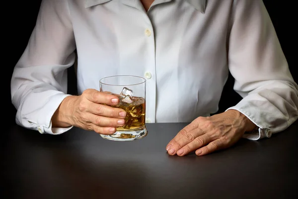
[[[83,92],[85,98],[95,103],[105,103],[108,105],[116,105],[119,103],[119,98],[107,92],[99,92],[95,89],[88,89]]]

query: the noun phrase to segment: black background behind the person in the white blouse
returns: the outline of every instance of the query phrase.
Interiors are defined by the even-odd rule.
[[[16,110],[10,99],[10,78],[15,64],[22,55],[31,32],[34,28],[41,0],[18,1],[15,4],[3,6],[2,11],[7,11],[2,20],[4,21],[2,76],[4,76],[4,95],[2,95],[2,107],[5,108],[4,116],[8,124],[15,123]],[[282,49],[288,60],[289,67],[296,82],[298,82],[297,62],[294,52],[297,53],[297,13],[295,1],[264,0],[266,8],[273,21]],[[5,10],[7,9],[7,10]],[[3,13],[3,12],[2,12]],[[296,24],[296,25],[295,25]],[[8,69],[8,74],[7,74]],[[69,82],[74,82],[73,67],[69,69]],[[72,85],[75,85],[72,84]],[[69,88],[69,93],[75,93],[75,87]],[[230,76],[224,86],[224,92],[220,101],[220,110],[236,104],[241,98],[233,91],[233,78]],[[8,107],[7,107],[8,106]],[[5,121],[4,120],[4,121]],[[6,123],[7,124],[7,123]]]

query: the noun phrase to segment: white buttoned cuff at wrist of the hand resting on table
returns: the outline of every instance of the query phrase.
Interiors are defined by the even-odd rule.
[[[244,133],[244,135],[242,136],[243,138],[246,138],[246,139],[249,139],[249,140],[259,140],[259,139],[262,139],[264,137],[266,137],[266,138],[271,137],[271,135],[272,135],[271,129],[268,128],[268,127],[267,128],[263,127],[263,125],[260,122],[257,122],[254,119],[252,119],[250,114],[247,113],[245,110],[241,110],[240,108],[237,108],[237,107],[233,106],[233,107],[230,107],[230,108],[226,109],[225,111],[230,110],[230,109],[238,110],[243,115],[245,115],[248,119],[250,119],[250,121],[252,121],[258,127],[258,129],[256,131]]]

